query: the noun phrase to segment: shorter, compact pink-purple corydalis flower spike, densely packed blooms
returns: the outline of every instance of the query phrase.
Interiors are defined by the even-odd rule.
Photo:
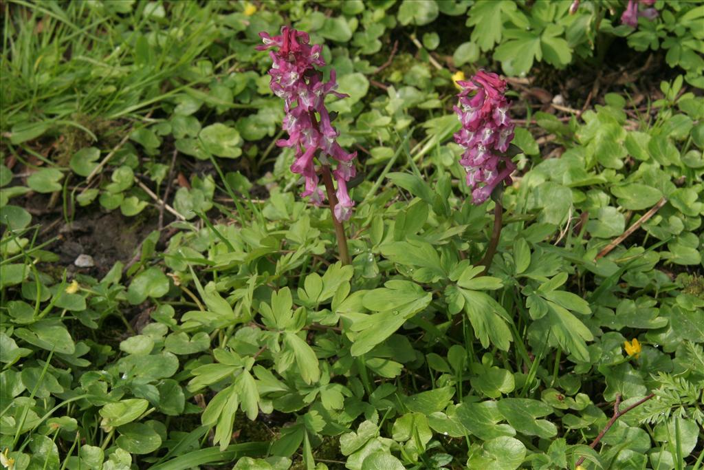
[[[506,82],[496,73],[479,70],[469,81],[457,82],[462,91],[455,106],[462,129],[455,133],[455,142],[464,149],[460,163],[467,170],[467,185],[472,189],[472,202],[482,204],[502,181],[511,184],[510,174],[516,168],[507,156],[513,140],[513,123],[508,117],[508,101],[504,96]]]

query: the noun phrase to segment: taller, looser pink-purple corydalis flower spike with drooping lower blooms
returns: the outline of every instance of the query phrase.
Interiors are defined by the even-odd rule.
[[[325,66],[322,48],[319,44],[308,44],[310,38],[306,32],[284,26],[280,36],[271,37],[266,32],[259,35],[264,45],[257,49],[272,49],[269,55],[274,63],[269,70],[269,86],[277,97],[284,99],[286,111],[283,128],[289,133],[289,138],[277,141],[277,145],[291,147],[296,152],[291,171],[306,180],[306,190],[301,196],[310,196],[315,204],[322,204],[323,193],[318,187],[318,170],[313,158],[318,154],[323,165],[336,162],[332,172],[337,180],[338,202],[334,214],[339,221],[347,220],[354,206],[347,192],[347,182],[356,173],[352,160],[357,152],[350,154],[337,143],[339,132],[333,127],[330,114],[325,109],[325,97],[328,94],[338,98],[348,95],[335,91],[337,81],[334,70],[330,71],[328,82],[322,81],[322,73],[315,68]]]

